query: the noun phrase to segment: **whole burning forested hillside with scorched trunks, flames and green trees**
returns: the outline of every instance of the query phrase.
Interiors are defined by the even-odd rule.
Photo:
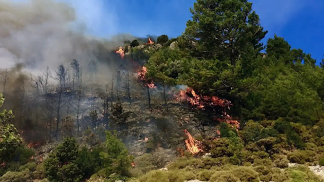
[[[324,59],[263,44],[247,0],[190,12],[177,38],[2,69],[0,182],[324,182]]]

